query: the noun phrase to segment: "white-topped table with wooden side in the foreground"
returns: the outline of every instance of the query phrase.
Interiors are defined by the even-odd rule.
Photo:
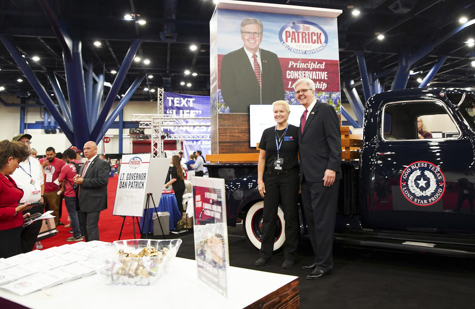
[[[197,279],[194,260],[181,258],[175,258],[167,274],[152,286],[106,285],[105,278],[95,274],[25,296],[0,289],[0,307],[15,308],[5,306],[4,300],[31,309],[130,309],[137,305],[241,309],[277,308],[278,304],[283,304],[281,308],[300,308],[298,277],[230,267],[229,297],[225,298]]]

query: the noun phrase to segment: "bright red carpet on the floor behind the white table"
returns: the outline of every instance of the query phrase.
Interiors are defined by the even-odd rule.
[[[109,184],[107,185],[107,209],[100,213],[99,218],[99,240],[111,242],[119,239],[120,227],[122,226],[123,217],[113,216],[112,210],[114,207],[115,200],[115,191],[117,189],[117,180],[118,175],[114,177],[109,177]],[[62,206],[62,215],[60,221],[68,224],[68,212],[66,207]],[[135,217],[134,217],[134,220]],[[132,217],[126,217],[124,223],[124,229],[122,230],[122,236],[120,239],[135,239],[140,238],[139,227],[137,226],[137,221],[135,223],[136,237],[134,237],[134,226],[132,225]],[[59,225],[56,227],[58,230],[55,236],[49,237],[45,240],[42,240],[43,249],[47,249],[54,246],[61,246],[64,244],[72,244],[72,242],[66,241],[66,238],[70,237],[72,234],[69,233],[71,228],[65,228],[64,225]]]

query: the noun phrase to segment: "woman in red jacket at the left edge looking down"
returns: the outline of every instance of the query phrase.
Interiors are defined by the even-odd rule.
[[[33,206],[29,203],[18,204],[23,190],[8,175],[29,155],[28,147],[21,142],[6,139],[0,141],[0,258],[21,253],[22,211]]]

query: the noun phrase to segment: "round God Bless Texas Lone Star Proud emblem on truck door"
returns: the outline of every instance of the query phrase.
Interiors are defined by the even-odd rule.
[[[445,177],[434,164],[417,161],[402,172],[399,185],[409,202],[427,206],[436,203],[444,195]]]

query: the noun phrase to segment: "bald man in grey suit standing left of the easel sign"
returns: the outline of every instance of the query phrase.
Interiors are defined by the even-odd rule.
[[[81,216],[86,241],[99,240],[99,214],[107,208],[109,164],[97,156],[94,141],[84,144],[84,156],[88,161],[74,178],[74,183],[79,184],[78,216]]]

